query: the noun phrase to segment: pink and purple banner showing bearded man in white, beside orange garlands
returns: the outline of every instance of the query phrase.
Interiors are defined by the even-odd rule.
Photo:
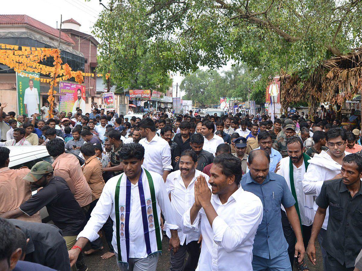
[[[60,81],[59,83],[59,111],[76,112],[79,107],[85,112],[85,85]]]

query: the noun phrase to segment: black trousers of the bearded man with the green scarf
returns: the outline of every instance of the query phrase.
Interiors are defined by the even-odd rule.
[[[287,214],[283,210],[280,210],[280,211],[282,214],[282,226],[283,226],[284,237],[287,240],[287,243],[289,245],[289,247],[288,247],[289,260],[290,260],[291,267],[293,268],[294,258],[295,258],[294,252],[295,252],[296,237],[295,237],[294,231],[289,223],[289,220],[287,218]],[[303,229],[304,249],[307,249],[309,239],[311,238],[312,225],[310,225],[310,226],[302,225],[302,229]]]

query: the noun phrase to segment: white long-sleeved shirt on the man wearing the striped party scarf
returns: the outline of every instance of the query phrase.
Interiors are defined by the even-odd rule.
[[[174,216],[171,210],[169,197],[166,192],[165,183],[159,174],[151,171],[150,173],[152,176],[153,185],[155,186],[157,214],[160,214],[162,210],[162,213],[164,214],[166,219],[165,226],[171,229],[178,229],[174,221]],[[126,175],[123,174],[122,178],[126,178]],[[117,239],[116,239],[114,195],[118,179],[119,175],[110,178],[108,182],[106,182],[101,197],[99,198],[96,207],[94,207],[87,225],[85,225],[83,231],[81,231],[77,237],[77,239],[79,237],[85,237],[91,242],[96,240],[99,237],[98,231],[102,228],[103,224],[107,221],[108,217],[110,216],[111,219],[113,220],[112,245],[116,253],[118,252],[118,250],[117,250]],[[142,173],[142,182],[147,182],[147,176],[144,170]],[[121,197],[122,195],[119,196]],[[130,219],[129,223],[130,258],[147,258],[146,243],[144,241],[142,213],[140,212],[140,210],[141,210],[141,205],[139,198],[138,183],[135,185],[131,184],[131,206],[130,206],[130,218],[129,218]],[[160,223],[160,216],[158,219]]]

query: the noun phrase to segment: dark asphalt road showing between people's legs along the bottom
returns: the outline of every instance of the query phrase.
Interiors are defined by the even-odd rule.
[[[110,259],[103,260],[101,259],[101,255],[108,251],[108,246],[106,245],[105,238],[102,238],[103,244],[105,244],[104,249],[102,251],[98,251],[97,253],[94,253],[92,255],[86,256],[85,261],[88,265],[89,271],[117,271],[119,270],[117,267],[117,263],[115,262],[115,257],[112,257]],[[157,263],[157,271],[168,271],[170,268],[170,254],[168,251],[168,238],[163,238],[162,240],[162,247],[163,247],[163,254],[159,257],[159,261]],[[323,271],[323,263],[321,259],[321,253],[319,249],[319,243],[316,242],[316,249],[317,249],[317,265],[312,266],[312,264],[309,262],[307,257],[305,257],[305,261],[308,263],[308,266],[310,267],[310,271]],[[87,248],[86,248],[87,250]],[[297,271],[297,268],[294,268],[293,271]]]

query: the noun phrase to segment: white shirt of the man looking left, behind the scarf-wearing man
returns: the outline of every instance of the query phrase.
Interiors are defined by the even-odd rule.
[[[139,142],[144,147],[143,167],[148,171],[157,172],[163,175],[165,170],[171,171],[171,149],[168,142],[155,135],[151,142],[142,138]]]

